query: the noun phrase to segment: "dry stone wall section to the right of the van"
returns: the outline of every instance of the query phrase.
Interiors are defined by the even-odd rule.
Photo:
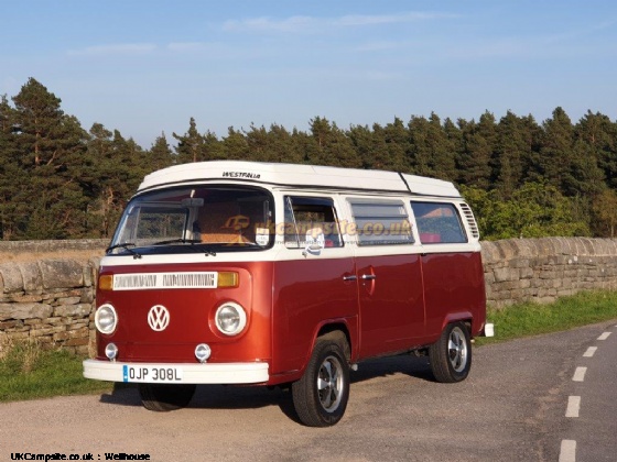
[[[551,302],[580,290],[617,289],[617,240],[510,239],[483,242],[487,302]]]

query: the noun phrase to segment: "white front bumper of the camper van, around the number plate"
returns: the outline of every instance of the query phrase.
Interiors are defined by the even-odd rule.
[[[126,383],[160,383],[159,381],[131,380],[128,367],[174,367],[181,370],[183,384],[259,384],[269,380],[268,363],[120,363],[99,360],[84,361],[84,377],[95,381]],[[167,382],[169,383],[169,382]]]

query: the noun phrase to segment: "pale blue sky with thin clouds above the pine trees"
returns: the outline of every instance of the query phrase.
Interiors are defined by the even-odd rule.
[[[617,118],[611,1],[0,0],[0,95],[34,77],[88,130],[163,131],[316,116]]]

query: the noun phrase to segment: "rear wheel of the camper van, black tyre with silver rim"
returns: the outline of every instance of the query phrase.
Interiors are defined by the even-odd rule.
[[[467,378],[472,369],[472,339],[467,326],[453,322],[429,349],[431,370],[437,382],[454,383]]]

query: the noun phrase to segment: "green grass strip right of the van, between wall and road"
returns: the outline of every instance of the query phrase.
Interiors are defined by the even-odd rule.
[[[477,344],[558,332],[611,319],[617,319],[617,292],[581,292],[548,305],[524,302],[501,309],[489,308],[487,321],[495,324],[495,337],[478,338]]]

